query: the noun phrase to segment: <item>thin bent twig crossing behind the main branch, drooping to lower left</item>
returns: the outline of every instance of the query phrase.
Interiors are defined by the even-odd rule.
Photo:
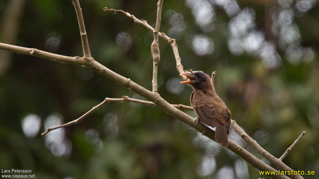
[[[86,116],[90,115],[93,111],[99,109],[101,106],[103,106],[104,104],[107,104],[109,102],[133,102],[133,103],[139,103],[139,104],[146,104],[146,105],[153,105],[156,106],[155,103],[153,103],[152,101],[145,101],[145,100],[140,100],[140,99],[134,99],[134,98],[130,98],[128,96],[123,96],[122,98],[105,98],[104,101],[96,106],[94,106],[90,111],[86,112],[84,115],[82,115],[81,117],[68,122],[66,124],[63,125],[59,125],[56,127],[52,127],[52,128],[48,128],[48,130],[46,132],[41,133],[41,136],[44,136],[45,134],[47,134],[48,132],[61,128],[61,127],[65,127],[65,126],[69,126],[72,124],[77,124],[78,122],[80,122],[82,119],[84,119]],[[193,108],[191,106],[186,106],[183,104],[172,104],[172,106],[174,106],[175,108],[179,108],[179,109],[187,109],[187,110],[193,110]]]

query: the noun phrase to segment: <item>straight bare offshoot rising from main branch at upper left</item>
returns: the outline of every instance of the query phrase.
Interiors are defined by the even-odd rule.
[[[92,56],[91,56],[89,42],[87,40],[87,35],[85,31],[82,9],[80,7],[79,0],[72,0],[72,2],[78,17],[78,23],[79,23],[80,33],[81,33],[81,40],[82,40],[83,55],[84,55],[84,58],[90,59],[92,58]]]

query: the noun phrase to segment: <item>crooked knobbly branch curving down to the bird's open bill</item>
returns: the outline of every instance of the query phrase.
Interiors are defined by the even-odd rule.
[[[134,15],[131,15],[129,12],[124,12],[122,10],[115,10],[115,9],[108,9],[108,7],[105,7],[104,8],[104,11],[114,11],[114,12],[122,12],[124,13],[127,17],[129,18],[132,18],[133,21],[137,24],[141,24],[141,25],[144,25],[145,27],[147,27],[150,31],[154,32],[154,28],[147,24],[147,21],[146,20],[139,20],[138,18],[136,18]],[[157,32],[159,37],[165,39],[173,48],[173,53],[174,53],[174,56],[175,56],[175,60],[176,60],[176,69],[178,70],[178,72],[181,74],[181,73],[184,73],[184,67],[182,66],[182,63],[181,63],[181,57],[179,56],[179,53],[178,53],[178,45],[176,44],[176,39],[172,39],[170,37],[168,37],[165,33],[163,32]],[[182,76],[182,78],[184,80],[187,79],[186,76]]]

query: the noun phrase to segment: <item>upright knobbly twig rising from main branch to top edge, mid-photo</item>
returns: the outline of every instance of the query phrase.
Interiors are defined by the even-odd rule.
[[[159,65],[160,53],[159,53],[159,26],[161,22],[163,0],[159,0],[157,3],[157,16],[156,16],[156,26],[154,33],[154,40],[151,46],[152,56],[153,56],[153,79],[152,79],[152,91],[157,92],[157,67]]]

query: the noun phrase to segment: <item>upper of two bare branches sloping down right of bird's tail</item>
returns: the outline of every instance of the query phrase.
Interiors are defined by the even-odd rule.
[[[237,125],[235,120],[232,120],[231,122],[232,128],[235,132],[237,132],[242,139],[244,139],[251,147],[253,147],[258,154],[262,154],[268,161],[276,165],[280,170],[284,171],[290,171],[292,170],[290,167],[288,167],[286,164],[284,164],[281,160],[271,155],[269,152],[267,152],[263,147],[261,147],[256,140],[253,140],[246,132],[244,132],[239,125]],[[301,179],[303,178],[301,175],[291,175],[292,178]]]

